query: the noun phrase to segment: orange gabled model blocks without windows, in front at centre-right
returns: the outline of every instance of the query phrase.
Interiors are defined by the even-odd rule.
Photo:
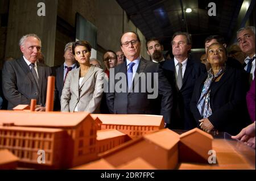
[[[109,150],[100,160],[74,169],[175,169],[179,162],[205,163],[212,140],[210,134],[197,128],[181,135],[163,129],[128,141]]]

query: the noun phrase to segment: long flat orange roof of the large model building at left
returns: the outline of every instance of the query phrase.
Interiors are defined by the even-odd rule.
[[[14,123],[22,127],[69,128],[77,126],[88,116],[88,112],[0,111],[0,125]]]

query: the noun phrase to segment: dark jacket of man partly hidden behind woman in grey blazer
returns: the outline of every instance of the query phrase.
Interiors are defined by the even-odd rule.
[[[79,64],[76,64],[76,68],[79,67]],[[54,110],[60,110],[60,97],[64,86],[64,64],[59,66],[53,66],[52,75],[55,76],[55,101],[54,101]]]

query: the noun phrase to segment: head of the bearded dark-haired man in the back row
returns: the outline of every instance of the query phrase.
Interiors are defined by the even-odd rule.
[[[156,64],[162,64],[164,60],[163,56],[163,45],[160,44],[160,41],[156,37],[146,41],[147,54],[151,57],[152,62]]]

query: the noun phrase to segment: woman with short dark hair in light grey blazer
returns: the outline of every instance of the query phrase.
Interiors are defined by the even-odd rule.
[[[76,41],[72,52],[80,67],[69,71],[61,95],[61,111],[98,113],[103,92],[105,73],[90,64],[91,45]]]

